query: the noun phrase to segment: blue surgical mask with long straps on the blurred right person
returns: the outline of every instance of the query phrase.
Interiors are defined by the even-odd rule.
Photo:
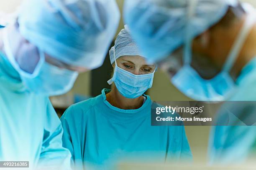
[[[190,13],[192,11],[190,10]],[[190,14],[192,15],[192,14]],[[227,100],[236,89],[236,84],[229,72],[238,57],[243,43],[246,40],[255,20],[254,15],[248,15],[238,38],[233,45],[222,71],[210,80],[203,79],[198,72],[191,67],[192,49],[189,28],[187,28],[187,41],[184,47],[183,67],[172,77],[172,83],[188,97],[199,101],[224,101]]]

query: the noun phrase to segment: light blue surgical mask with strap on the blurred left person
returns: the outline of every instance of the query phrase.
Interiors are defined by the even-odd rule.
[[[61,69],[47,63],[42,50],[39,50],[40,59],[33,73],[30,74],[22,70],[15,60],[11,50],[7,31],[8,30],[5,30],[3,39],[6,56],[15,70],[19,73],[23,84],[29,91],[40,95],[52,96],[62,95],[73,87],[74,82],[77,79],[78,72]]]

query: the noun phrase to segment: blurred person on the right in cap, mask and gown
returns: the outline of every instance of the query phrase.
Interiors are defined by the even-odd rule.
[[[185,95],[207,102],[256,101],[256,11],[251,5],[238,0],[127,0],[124,11],[142,54],[159,62]],[[255,117],[253,110],[255,106],[225,113],[229,126],[212,127],[210,163],[248,159],[256,126],[247,125],[255,121],[243,124],[238,117]],[[222,116],[217,115],[217,122],[223,122]]]

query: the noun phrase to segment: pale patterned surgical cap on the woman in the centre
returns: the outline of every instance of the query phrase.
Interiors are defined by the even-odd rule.
[[[115,58],[114,58],[115,52]],[[116,37],[115,46],[113,46],[109,51],[110,62],[113,64],[115,59],[118,59],[124,55],[140,55],[138,46],[134,42],[131,34],[129,33],[129,28],[125,25],[125,28],[121,30]]]

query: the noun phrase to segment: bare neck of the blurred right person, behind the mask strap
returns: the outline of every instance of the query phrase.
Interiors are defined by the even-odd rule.
[[[256,24],[250,31],[246,42],[231,70],[231,75],[233,77],[238,77],[248,62],[250,62],[254,57],[256,57]]]

